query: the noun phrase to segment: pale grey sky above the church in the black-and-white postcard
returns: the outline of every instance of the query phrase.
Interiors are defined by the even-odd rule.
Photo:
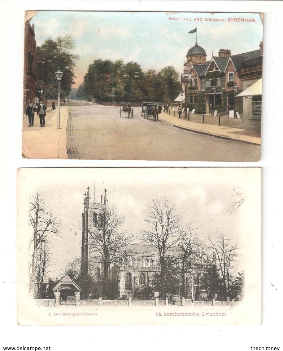
[[[238,269],[252,258],[251,240],[256,250],[260,240],[259,168],[38,168],[19,172],[19,220],[26,246],[32,237],[28,226],[29,198],[36,192],[46,197],[57,216],[60,236],[49,240],[53,267],[49,276],[58,277],[67,264],[81,255],[81,222],[84,193],[90,187],[90,202],[100,202],[107,189],[108,207],[124,217],[121,229],[132,231],[140,243],[145,228],[147,205],[167,198],[182,214],[183,224],[194,220],[196,233],[205,241],[221,230],[240,245]],[[230,205],[244,199],[235,211]],[[22,218],[22,220],[21,220]],[[259,230],[258,230],[259,229]],[[255,251],[256,254],[256,251]],[[25,256],[26,258],[28,256]]]

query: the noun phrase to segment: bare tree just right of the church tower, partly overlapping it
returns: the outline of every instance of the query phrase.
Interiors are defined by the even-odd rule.
[[[108,209],[103,221],[97,222],[95,230],[89,230],[90,253],[97,253],[103,268],[103,296],[109,297],[109,270],[116,262],[117,255],[126,253],[127,246],[133,241],[133,234],[121,231],[124,218],[113,208]]]

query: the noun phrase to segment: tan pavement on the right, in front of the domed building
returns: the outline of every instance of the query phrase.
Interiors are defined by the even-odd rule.
[[[175,116],[174,116],[175,111]],[[212,135],[216,138],[228,139],[233,141],[241,141],[242,143],[261,145],[261,132],[256,130],[247,130],[241,128],[241,119],[220,117],[220,126],[218,126],[218,117],[210,114],[204,115],[204,123],[202,123],[202,114],[191,114],[190,120],[178,118],[177,111],[172,109],[168,113],[159,114],[159,120],[168,125],[206,135]]]

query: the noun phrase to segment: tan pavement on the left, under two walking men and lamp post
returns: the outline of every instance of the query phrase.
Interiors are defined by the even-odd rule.
[[[66,129],[69,107],[62,104],[60,126],[57,129],[58,109],[47,105],[45,127],[40,127],[35,113],[34,126],[29,127],[28,117],[24,115],[22,129],[22,156],[31,159],[68,159],[66,148]]]

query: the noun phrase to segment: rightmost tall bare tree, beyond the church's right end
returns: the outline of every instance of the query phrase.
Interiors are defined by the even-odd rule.
[[[216,260],[219,264],[221,272],[224,294],[230,294],[230,271],[233,268],[233,263],[238,256],[239,249],[238,241],[233,243],[231,239],[225,235],[224,230],[217,233],[215,237],[208,236],[210,242],[209,248],[215,252]],[[224,296],[227,297],[227,296]]]

